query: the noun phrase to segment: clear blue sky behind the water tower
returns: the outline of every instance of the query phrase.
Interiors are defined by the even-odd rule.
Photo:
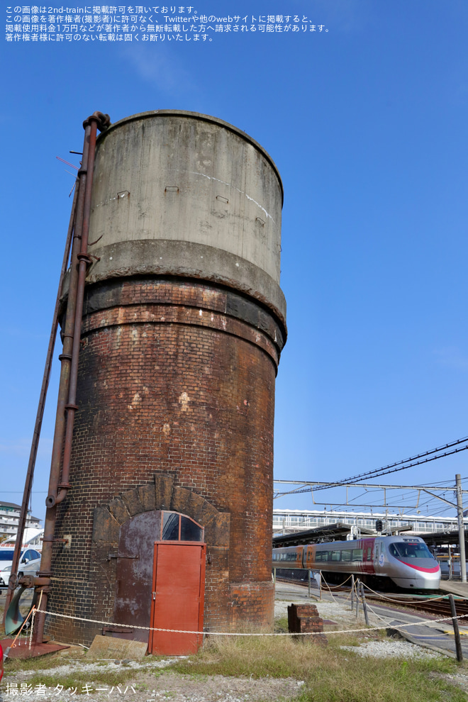
[[[289,340],[277,378],[277,478],[345,478],[468,435],[467,3],[195,8],[297,14],[328,32],[138,45],[0,40],[6,500],[21,502],[71,206],[72,169],[55,157],[78,165],[69,150],[81,150],[82,121],[95,110],[112,121],[159,108],[211,114],[252,135],[282,174]],[[54,375],[38,516],[55,394]],[[462,452],[385,481],[450,481],[468,476],[467,462]]]

